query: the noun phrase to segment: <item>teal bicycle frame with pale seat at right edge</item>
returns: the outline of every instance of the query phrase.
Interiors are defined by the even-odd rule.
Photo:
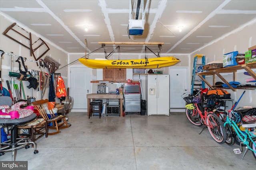
[[[218,110],[218,111],[223,113],[223,110]],[[229,126],[232,127],[231,129],[233,129],[233,131],[236,135],[236,139],[239,139],[239,141],[240,141],[240,149],[234,149],[233,151],[236,154],[242,153],[243,152],[242,145],[243,145],[246,147],[244,155],[246,154],[246,152],[248,150],[251,150],[252,155],[256,159],[256,132],[252,131],[252,129],[256,128],[256,123],[243,124],[242,127],[245,128],[245,131],[241,131],[240,128],[238,127],[238,125],[236,124],[236,123],[238,123],[237,120],[240,119],[240,115],[238,113],[236,113],[236,111],[233,111],[233,110],[228,110],[228,111],[224,111],[224,112],[226,112],[226,117],[224,118],[224,119],[226,119],[226,121],[224,123],[226,133],[227,134],[232,133],[230,131],[227,131],[227,129],[230,129],[230,128],[226,128]],[[242,156],[242,159],[244,158],[244,155]]]

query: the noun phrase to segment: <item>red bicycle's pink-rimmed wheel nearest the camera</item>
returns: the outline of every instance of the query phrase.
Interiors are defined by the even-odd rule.
[[[227,134],[220,118],[215,113],[208,112],[206,123],[214,141],[218,143],[225,143]]]

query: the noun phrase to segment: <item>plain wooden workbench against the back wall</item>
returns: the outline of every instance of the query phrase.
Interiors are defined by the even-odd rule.
[[[120,99],[120,116],[123,113],[123,95],[121,94],[97,94],[97,93],[92,93],[92,94],[87,94],[87,114],[89,114],[89,108],[90,108],[90,102],[94,99]],[[89,115],[88,115],[89,116]]]

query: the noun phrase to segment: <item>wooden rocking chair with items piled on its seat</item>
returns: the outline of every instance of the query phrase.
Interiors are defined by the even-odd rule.
[[[46,131],[47,131],[46,134],[55,135],[57,133],[60,133],[60,129],[68,128],[71,125],[67,123],[65,115],[54,115],[52,108],[50,107],[50,104],[48,102],[49,102],[48,99],[38,100],[38,101],[32,102],[32,105],[36,107],[40,115],[46,121]],[[46,110],[49,110],[50,114],[47,114]],[[59,120],[61,121],[60,123],[58,123]],[[56,131],[49,133],[48,129],[55,129]]]

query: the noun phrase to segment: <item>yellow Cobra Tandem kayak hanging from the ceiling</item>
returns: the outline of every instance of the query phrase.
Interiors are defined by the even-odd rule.
[[[78,59],[90,68],[160,68],[172,66],[179,59],[175,57],[157,57],[152,59],[108,60],[108,59]]]

